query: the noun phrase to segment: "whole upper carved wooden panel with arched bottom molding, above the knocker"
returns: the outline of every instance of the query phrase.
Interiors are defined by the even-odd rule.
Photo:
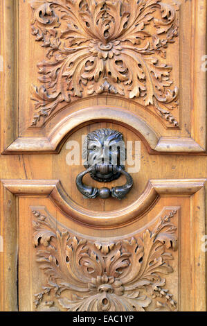
[[[138,121],[134,131],[154,137],[147,132],[151,153],[206,152],[205,0],[1,8],[2,153],[57,153],[90,111],[96,121]]]

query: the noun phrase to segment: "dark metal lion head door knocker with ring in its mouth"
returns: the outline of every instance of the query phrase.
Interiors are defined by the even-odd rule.
[[[82,157],[86,171],[78,174],[76,185],[84,198],[114,198],[123,199],[133,185],[131,175],[125,171],[125,143],[123,135],[109,128],[90,132],[84,139]],[[91,178],[98,182],[111,182],[125,175],[127,182],[123,186],[102,187],[100,189],[84,185],[82,178],[90,173]]]

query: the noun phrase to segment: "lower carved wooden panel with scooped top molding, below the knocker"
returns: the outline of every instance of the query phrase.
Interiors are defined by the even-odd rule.
[[[19,198],[19,309],[204,309],[205,182],[151,180],[156,202],[145,199],[145,214],[143,200],[136,203],[136,218],[116,225],[114,239],[112,224],[77,228],[67,199],[53,199],[54,180],[3,180],[6,200],[11,194]],[[197,237],[189,242],[192,234]],[[10,289],[8,284],[5,295]]]

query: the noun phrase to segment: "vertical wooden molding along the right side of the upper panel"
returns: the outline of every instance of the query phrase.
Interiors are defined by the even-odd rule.
[[[192,132],[191,137],[206,149],[206,71],[201,67],[206,55],[206,0],[192,1]],[[190,69],[190,67],[189,67]]]

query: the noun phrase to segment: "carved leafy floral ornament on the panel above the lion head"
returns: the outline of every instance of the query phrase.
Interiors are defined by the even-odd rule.
[[[175,2],[175,1],[174,1]],[[153,105],[171,126],[178,87],[165,49],[178,35],[177,4],[161,0],[33,0],[32,33],[47,48],[33,86],[35,126],[63,101],[120,94]]]

